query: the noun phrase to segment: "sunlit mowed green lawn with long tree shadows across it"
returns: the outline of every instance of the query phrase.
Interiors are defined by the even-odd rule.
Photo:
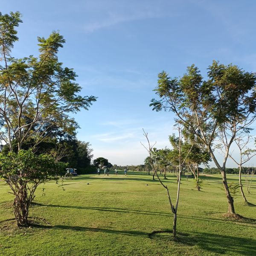
[[[176,177],[168,175],[173,201]],[[202,176],[203,177],[203,176]],[[240,192],[236,212],[252,220],[224,219],[227,201],[221,176],[204,178],[202,192],[182,177],[177,217],[178,241],[171,233],[172,212],[166,190],[146,174],[127,177],[80,175],[40,186],[29,217],[30,228],[17,228],[9,187],[0,181],[0,255],[256,255],[256,207],[244,206]],[[208,179],[208,181],[207,181]],[[238,182],[237,175],[228,175]],[[87,184],[89,183],[89,184]],[[148,186],[147,186],[148,184]],[[64,190],[65,189],[65,190]],[[251,194],[256,204],[256,179]]]

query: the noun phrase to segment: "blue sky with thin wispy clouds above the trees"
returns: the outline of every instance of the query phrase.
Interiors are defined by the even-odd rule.
[[[118,165],[143,164],[142,128],[157,148],[169,147],[174,115],[148,106],[160,71],[182,76],[195,63],[205,75],[213,59],[256,71],[255,10],[253,0],[9,0],[0,7],[23,14],[15,57],[37,55],[37,36],[64,36],[59,60],[74,68],[83,95],[98,97],[76,114],[77,137],[91,143],[94,157]]]

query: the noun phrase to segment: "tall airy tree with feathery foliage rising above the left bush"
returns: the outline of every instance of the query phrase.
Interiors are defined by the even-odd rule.
[[[65,40],[58,32],[49,38],[38,37],[39,57],[16,59],[11,56],[19,12],[0,15],[0,138],[12,151],[12,140],[18,150],[29,138],[35,146],[53,127],[73,133],[76,121],[68,116],[86,109],[96,101],[94,96],[80,96],[81,87],[75,82],[76,73],[58,61],[58,49]]]

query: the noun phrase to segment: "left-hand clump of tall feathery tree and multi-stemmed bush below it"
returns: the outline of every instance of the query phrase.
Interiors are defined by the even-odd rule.
[[[53,155],[26,153],[24,148],[35,149],[56,133],[74,136],[78,124],[70,113],[88,110],[96,97],[81,96],[76,73],[58,61],[65,43],[58,32],[38,37],[38,57],[13,57],[21,22],[20,12],[0,13],[0,139],[11,151],[1,154],[0,177],[14,193],[17,224],[26,226],[36,187],[59,168]]]

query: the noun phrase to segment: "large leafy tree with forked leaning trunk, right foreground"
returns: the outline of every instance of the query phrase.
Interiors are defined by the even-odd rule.
[[[203,143],[221,172],[228,202],[228,212],[235,214],[233,198],[227,184],[226,162],[236,133],[251,124],[256,110],[256,74],[245,72],[236,65],[213,61],[207,81],[193,64],[182,78],[171,79],[163,71],[155,89],[159,100],[152,99],[153,110],[172,111],[186,131]],[[223,128],[230,127],[222,165],[218,162],[214,143]]]

